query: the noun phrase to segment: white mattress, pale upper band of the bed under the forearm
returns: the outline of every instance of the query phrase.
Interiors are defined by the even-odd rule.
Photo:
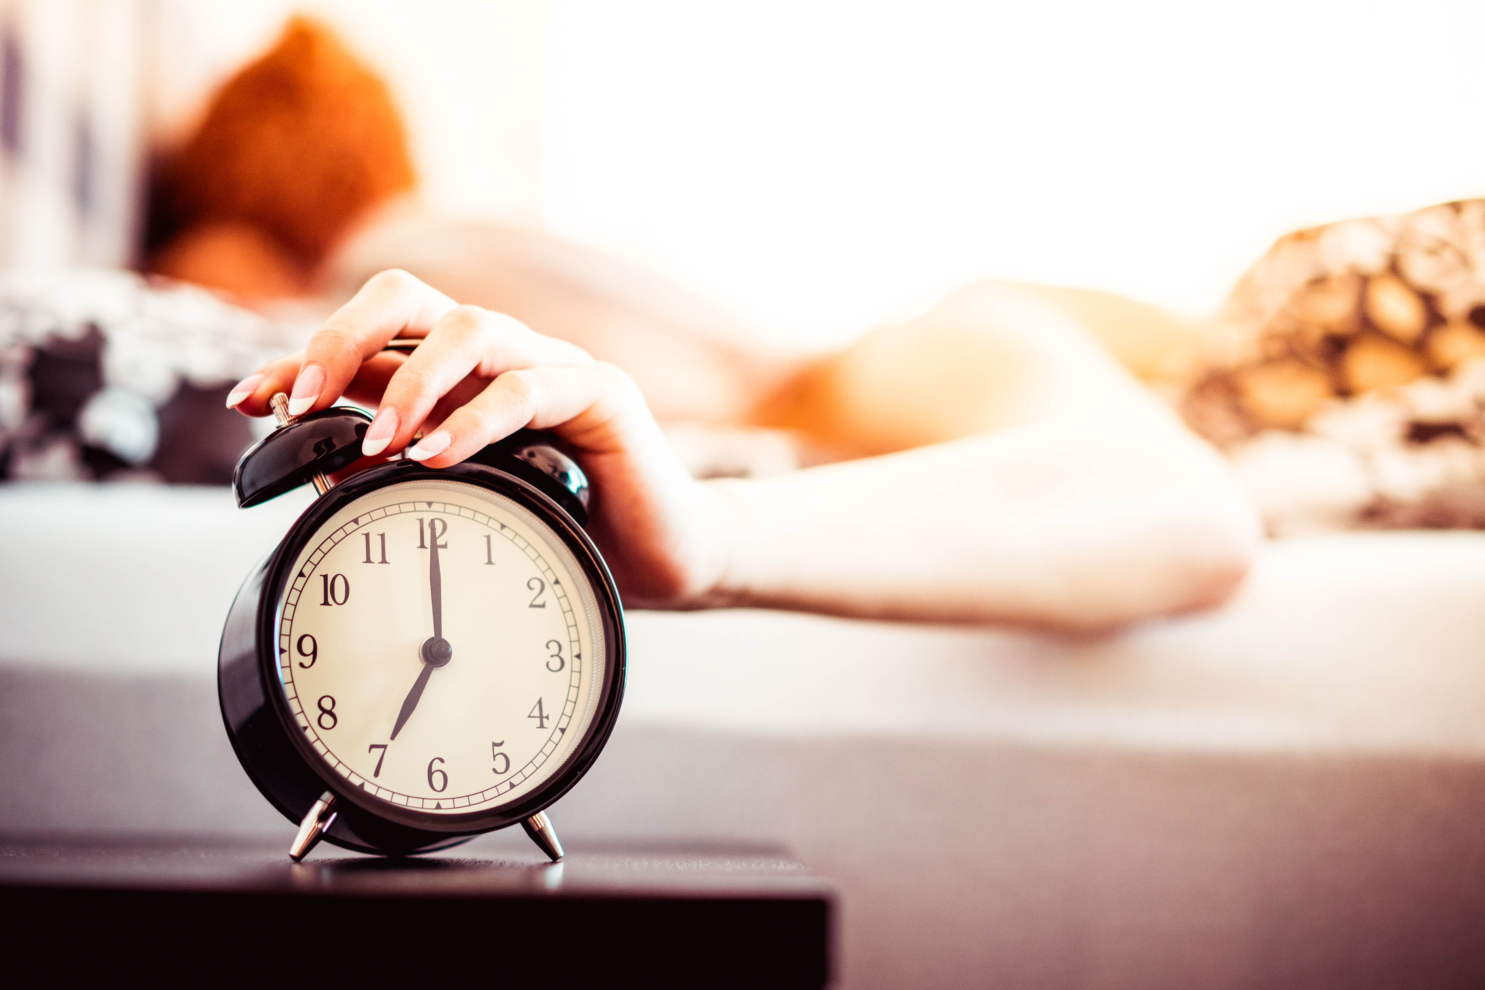
[[[0,487],[0,660],[212,677],[238,585],[309,505]],[[1099,637],[771,612],[628,616],[624,718],[1182,751],[1485,754],[1485,534],[1264,548],[1227,607]]]

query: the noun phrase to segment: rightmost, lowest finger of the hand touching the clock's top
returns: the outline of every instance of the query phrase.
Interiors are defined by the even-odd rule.
[[[578,447],[601,436],[607,447],[615,438],[643,432],[649,422],[639,387],[613,365],[521,368],[502,374],[450,413],[407,456],[447,468],[523,426],[551,429]]]

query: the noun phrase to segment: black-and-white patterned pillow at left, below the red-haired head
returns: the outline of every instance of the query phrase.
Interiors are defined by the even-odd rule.
[[[0,272],[0,479],[229,484],[227,392],[310,328],[131,272]]]

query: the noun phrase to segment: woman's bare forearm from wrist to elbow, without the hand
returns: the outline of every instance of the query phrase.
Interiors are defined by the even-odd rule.
[[[1213,451],[1142,423],[708,484],[732,533],[707,606],[1102,628],[1221,601],[1258,537]]]

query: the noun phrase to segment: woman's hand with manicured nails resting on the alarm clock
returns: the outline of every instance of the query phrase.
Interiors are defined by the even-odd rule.
[[[394,337],[423,337],[410,356],[385,353]],[[523,426],[567,441],[593,479],[590,533],[625,601],[699,604],[726,568],[728,502],[676,459],[634,381],[567,341],[477,306],[459,306],[407,272],[382,272],[342,306],[297,355],[249,376],[227,399],[267,416],[342,395],[377,404],[362,451],[407,451],[447,468]]]

